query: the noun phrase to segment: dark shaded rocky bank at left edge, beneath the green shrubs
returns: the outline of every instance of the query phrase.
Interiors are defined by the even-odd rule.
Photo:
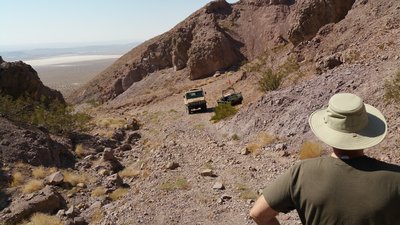
[[[0,118],[0,155],[4,162],[33,166],[72,167],[75,163],[66,143],[54,141],[38,129],[17,127],[4,118]]]

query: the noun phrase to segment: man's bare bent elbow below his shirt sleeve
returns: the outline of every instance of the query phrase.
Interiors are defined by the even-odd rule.
[[[268,205],[264,195],[261,195],[257,199],[253,208],[250,210],[250,217],[258,225],[280,225],[279,221],[275,217],[276,215],[278,215],[278,212]]]

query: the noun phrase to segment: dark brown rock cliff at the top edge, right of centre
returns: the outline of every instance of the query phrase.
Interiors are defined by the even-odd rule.
[[[304,40],[312,39],[324,25],[342,20],[354,2],[355,0],[298,1],[293,10],[289,40],[298,45]]]

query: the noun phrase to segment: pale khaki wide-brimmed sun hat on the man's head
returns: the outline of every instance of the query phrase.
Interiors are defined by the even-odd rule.
[[[310,115],[309,124],[321,141],[342,150],[370,148],[379,144],[387,132],[382,113],[350,93],[333,95],[328,108]]]

